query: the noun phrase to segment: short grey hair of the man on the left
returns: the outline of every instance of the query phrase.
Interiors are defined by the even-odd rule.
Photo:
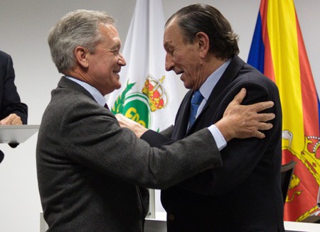
[[[77,46],[95,53],[97,43],[102,40],[100,24],[114,25],[114,18],[103,11],[78,10],[67,13],[51,28],[48,35],[50,53],[60,73],[75,65],[73,51]]]

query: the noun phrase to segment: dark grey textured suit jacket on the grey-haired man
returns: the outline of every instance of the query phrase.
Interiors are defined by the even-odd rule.
[[[208,129],[150,148],[79,84],[63,77],[38,132],[38,187],[48,231],[143,231],[149,195],[221,165]],[[180,154],[180,151],[183,155]],[[139,187],[138,187],[139,186]]]

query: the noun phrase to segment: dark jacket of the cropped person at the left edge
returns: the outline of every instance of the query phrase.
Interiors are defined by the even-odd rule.
[[[27,123],[28,106],[21,103],[14,84],[14,65],[10,55],[0,51],[0,120],[17,114],[22,123]]]

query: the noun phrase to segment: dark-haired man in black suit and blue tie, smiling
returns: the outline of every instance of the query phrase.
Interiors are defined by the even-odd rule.
[[[142,126],[139,131],[137,123],[118,116],[122,126],[151,146],[170,144],[216,123],[242,88],[247,89],[242,104],[273,101],[267,112],[276,115],[264,139],[230,140],[221,150],[222,167],[161,191],[168,232],[284,231],[277,86],[238,57],[238,35],[213,6],[194,4],[174,13],[166,22],[164,48],[166,70],[181,74],[184,86],[191,89],[178,109],[171,138]],[[194,115],[193,104],[198,104]]]

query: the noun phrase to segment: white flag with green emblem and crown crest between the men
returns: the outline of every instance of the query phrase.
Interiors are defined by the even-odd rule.
[[[174,123],[178,110],[176,75],[166,72],[164,13],[159,0],[137,0],[123,55],[121,89],[108,98],[114,114],[162,131]]]

